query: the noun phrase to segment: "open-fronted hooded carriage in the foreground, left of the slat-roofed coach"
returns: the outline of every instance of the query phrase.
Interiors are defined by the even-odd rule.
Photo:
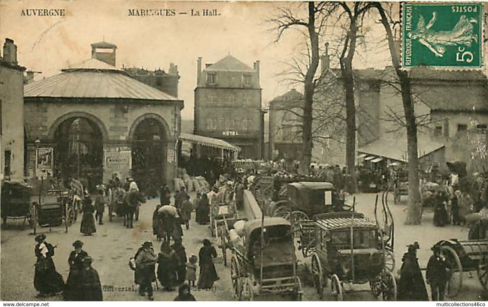
[[[302,285],[296,273],[293,231],[289,221],[264,217],[244,225],[242,248],[232,247],[231,279],[239,300],[300,301]]]

